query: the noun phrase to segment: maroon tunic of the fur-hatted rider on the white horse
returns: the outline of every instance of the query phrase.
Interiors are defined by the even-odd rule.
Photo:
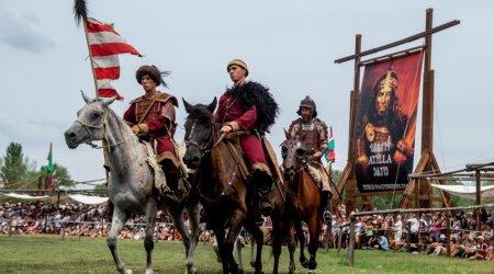
[[[153,106],[149,109],[150,104]],[[131,107],[123,116],[128,123],[147,126],[148,134],[156,140],[158,161],[170,159],[177,163],[178,160],[171,141],[176,126],[175,105],[177,105],[177,99],[166,93],[160,93],[156,101],[139,96],[131,102]],[[148,113],[146,113],[147,109],[149,109]]]

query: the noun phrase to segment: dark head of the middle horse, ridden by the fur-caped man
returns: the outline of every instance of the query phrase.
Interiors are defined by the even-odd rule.
[[[201,158],[212,148],[214,137],[213,112],[216,98],[209,105],[191,105],[182,99],[188,113],[186,128],[186,155],[183,162],[189,169],[197,169]]]

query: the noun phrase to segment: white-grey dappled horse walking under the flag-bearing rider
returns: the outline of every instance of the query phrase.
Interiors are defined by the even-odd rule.
[[[126,269],[116,250],[116,237],[131,214],[146,215],[146,273],[153,273],[151,253],[154,249],[153,232],[158,209],[168,210],[175,227],[182,236],[186,246],[186,273],[195,273],[193,255],[199,238],[199,209],[197,198],[189,199],[189,190],[177,191],[176,196],[159,196],[155,189],[155,175],[148,164],[146,146],[131,132],[125,122],[119,117],[109,105],[112,99],[89,99],[82,93],[86,105],[77,113],[77,119],[65,132],[67,146],[71,149],[80,144],[92,145],[94,140],[102,141],[106,165],[110,167],[108,195],[114,205],[112,227],[106,242],[112,252],[116,270],[121,273],[132,273]],[[150,159],[153,160],[153,159]],[[193,201],[194,203],[191,203]],[[187,210],[191,233],[182,219]]]

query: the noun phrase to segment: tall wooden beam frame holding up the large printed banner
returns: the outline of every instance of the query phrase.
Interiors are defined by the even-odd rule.
[[[341,172],[341,176],[339,178],[336,184],[337,192],[344,195],[341,198],[335,196],[336,203],[334,203],[335,205],[339,203],[345,203],[347,216],[357,208],[357,205],[361,205],[360,207],[361,210],[371,210],[373,206],[370,196],[378,196],[378,195],[403,194],[402,201],[400,202],[398,206],[400,208],[430,207],[434,202],[442,203],[442,205],[446,206],[452,206],[452,201],[449,197],[449,195],[447,193],[440,192],[440,196],[435,196],[428,181],[426,180],[414,180],[414,179],[408,180],[405,191],[360,193],[357,187],[355,162],[352,159],[353,126],[357,119],[357,111],[360,96],[360,67],[368,64],[374,64],[383,60],[389,60],[398,56],[408,55],[415,50],[424,50],[422,152],[420,152],[420,160],[418,161],[418,164],[415,168],[414,173],[424,173],[424,172],[440,173],[439,164],[437,163],[433,152],[434,70],[430,68],[431,53],[433,53],[433,34],[446,30],[448,27],[458,25],[460,24],[460,21],[454,20],[433,28],[433,11],[434,11],[433,9],[426,10],[426,30],[424,32],[366,52],[361,52],[362,35],[357,34],[355,44],[355,54],[335,60],[336,64],[345,62],[348,60],[355,60],[353,90],[350,92],[348,160],[347,165]],[[420,38],[425,39],[424,46],[414,47],[391,55],[385,55],[366,61],[361,61],[362,56],[375,54],[378,52],[400,46]]]

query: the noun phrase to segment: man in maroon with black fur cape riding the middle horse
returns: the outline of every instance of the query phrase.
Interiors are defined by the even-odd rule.
[[[272,212],[272,203],[268,194],[273,179],[269,156],[263,147],[267,140],[265,133],[274,124],[279,112],[272,94],[262,84],[246,81],[249,73],[247,65],[239,59],[228,62],[226,70],[234,85],[220,98],[215,123],[222,124],[222,133],[237,133],[247,164],[250,169],[250,182],[260,196],[261,212],[268,216]],[[277,167],[277,164],[274,164]]]

